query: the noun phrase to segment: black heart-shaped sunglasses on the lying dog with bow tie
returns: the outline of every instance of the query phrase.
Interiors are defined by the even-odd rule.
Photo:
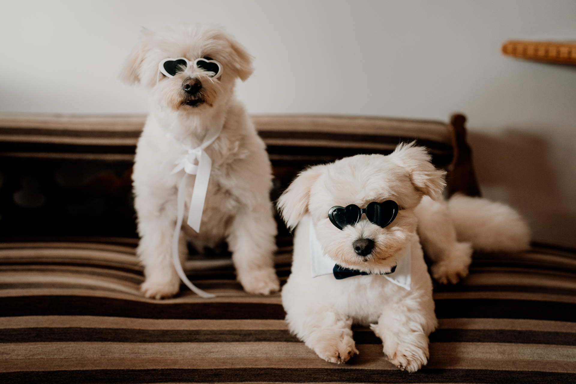
[[[328,211],[328,218],[338,229],[344,229],[347,225],[355,225],[366,214],[371,223],[382,228],[394,221],[398,214],[398,204],[393,200],[386,200],[384,203],[372,201],[366,208],[360,208],[355,204],[346,207],[334,206]]]

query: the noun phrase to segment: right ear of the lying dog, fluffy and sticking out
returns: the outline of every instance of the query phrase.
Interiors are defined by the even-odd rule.
[[[416,147],[415,142],[400,143],[390,156],[396,164],[408,170],[414,188],[433,200],[442,200],[446,171],[431,164],[425,147]]]

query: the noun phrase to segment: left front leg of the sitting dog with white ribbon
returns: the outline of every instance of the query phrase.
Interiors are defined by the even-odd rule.
[[[154,199],[137,195],[138,233],[140,242],[137,254],[144,265],[146,280],[141,290],[146,297],[162,299],[175,295],[180,289],[180,277],[172,261],[172,237],[176,226],[176,209],[173,204],[154,209]],[[184,234],[179,238],[180,260],[187,255]]]

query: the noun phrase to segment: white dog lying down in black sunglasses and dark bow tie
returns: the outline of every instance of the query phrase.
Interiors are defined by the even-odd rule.
[[[355,323],[370,325],[396,366],[414,372],[426,364],[437,320],[417,229],[425,232],[441,282],[465,276],[472,252],[470,243],[456,241],[442,202],[444,176],[425,149],[400,145],[387,156],[309,168],[280,197],[287,226],[298,225],[292,273],[282,290],[286,321],[321,358],[343,363],[358,353]],[[430,198],[420,204],[423,196]],[[482,201],[491,210],[494,203]],[[508,225],[522,227],[509,237],[524,230],[515,245],[525,248],[527,227],[511,208],[503,214]]]

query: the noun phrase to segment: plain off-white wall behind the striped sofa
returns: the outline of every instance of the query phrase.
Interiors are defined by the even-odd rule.
[[[482,191],[576,247],[576,66],[503,41],[576,40],[573,0],[4,1],[0,111],[145,113],[117,80],[142,27],[225,26],[256,57],[251,113],[448,119],[464,112]]]

